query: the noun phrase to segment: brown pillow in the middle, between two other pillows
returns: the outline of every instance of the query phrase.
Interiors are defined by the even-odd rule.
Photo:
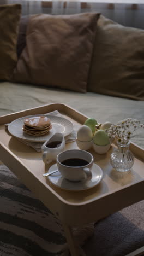
[[[98,18],[95,13],[31,17],[13,80],[86,92]]]

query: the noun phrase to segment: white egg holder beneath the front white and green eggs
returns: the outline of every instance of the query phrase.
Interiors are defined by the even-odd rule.
[[[105,146],[99,146],[97,144],[95,144],[93,142],[93,139],[92,141],[88,141],[88,142],[83,142],[83,141],[79,141],[77,138],[76,138],[76,144],[77,146],[82,149],[82,150],[88,150],[90,149],[91,147],[93,147],[94,151],[98,154],[105,154],[111,147],[111,144],[112,144],[113,140],[111,140],[110,144],[107,144]]]

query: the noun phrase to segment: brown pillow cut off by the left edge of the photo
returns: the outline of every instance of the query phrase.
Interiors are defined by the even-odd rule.
[[[17,62],[17,31],[21,5],[0,5],[0,79],[9,80]]]

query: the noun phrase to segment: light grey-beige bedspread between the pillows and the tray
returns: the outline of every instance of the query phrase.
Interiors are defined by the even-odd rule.
[[[82,94],[44,88],[43,86],[0,83],[0,115],[55,102],[68,104],[88,117],[97,119],[99,123],[104,123],[105,121],[117,122],[124,118],[135,118],[144,123],[143,101],[128,100],[92,92]],[[144,130],[138,130],[131,141],[144,148]]]

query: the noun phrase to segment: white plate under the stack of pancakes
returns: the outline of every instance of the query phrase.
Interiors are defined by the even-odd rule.
[[[43,115],[43,114],[39,114]],[[38,115],[27,115],[26,117],[18,118],[11,122],[8,126],[8,131],[11,133],[11,135],[25,139],[26,141],[32,141],[32,142],[45,142],[47,139],[49,139],[52,135],[54,135],[56,132],[63,133],[64,136],[68,136],[73,130],[74,125],[71,121],[69,121],[66,118],[57,117],[56,115],[44,115],[51,119],[52,129],[44,136],[31,136],[23,132],[22,126],[24,119],[30,118],[30,117],[38,117]]]

